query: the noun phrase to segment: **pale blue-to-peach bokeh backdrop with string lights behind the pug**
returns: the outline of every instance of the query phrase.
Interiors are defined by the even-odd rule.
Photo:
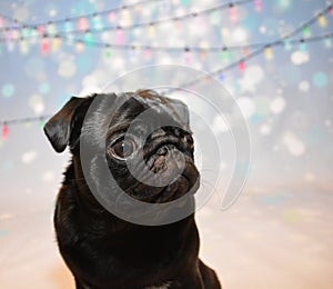
[[[42,126],[71,96],[154,64],[211,73],[249,124],[241,197],[222,211],[222,186],[196,215],[201,257],[224,288],[332,288],[331,1],[1,0],[0,61],[1,288],[73,288],[52,227],[69,153]],[[191,86],[209,98],[209,81]]]

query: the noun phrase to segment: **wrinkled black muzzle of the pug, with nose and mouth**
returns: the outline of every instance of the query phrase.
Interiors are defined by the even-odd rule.
[[[142,166],[151,173],[144,175],[142,167],[138,166],[138,181],[125,189],[128,195],[140,201],[170,202],[194,193],[199,188],[200,176],[193,159],[170,142],[159,146],[153,153],[145,153]]]

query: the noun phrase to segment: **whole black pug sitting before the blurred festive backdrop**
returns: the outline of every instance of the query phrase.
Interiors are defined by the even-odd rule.
[[[98,98],[98,104],[89,110]],[[105,111],[111,111],[119,101],[122,104],[112,112],[110,121]],[[130,136],[124,137],[132,121],[147,109],[154,114],[151,123],[139,121],[131,132],[135,136],[128,133]],[[88,114],[91,117],[85,124]],[[161,124],[157,123],[160,121]],[[149,133],[144,143],[140,144],[138,138],[147,134],[152,122],[161,127]],[[169,126],[163,127],[167,122]],[[100,133],[103,130],[107,133]],[[47,122],[44,132],[57,152],[69,146],[72,153],[57,199],[54,227],[60,252],[74,276],[77,288],[221,288],[215,272],[198,257],[200,241],[194,221],[193,192],[199,187],[199,172],[193,160],[193,139],[185,104],[152,90],[73,97]],[[168,215],[174,213],[172,201],[188,196],[192,202],[174,206],[175,210],[188,210],[186,216],[170,223],[150,226],[131,222],[105,209],[88,181],[91,179],[100,185],[104,179],[102,173],[97,173],[100,169],[97,159],[88,163],[89,173],[82,170],[84,156],[80,143],[83,139],[88,147],[102,143],[104,148],[102,157],[109,176],[111,172],[118,183],[118,187],[111,188],[101,185],[105,193],[112,191],[120,196],[125,192],[149,205],[171,203],[171,209],[161,213],[164,216],[161,218],[167,219]],[[138,180],[127,161],[135,161],[139,151],[153,176],[159,179],[165,173],[169,177],[174,175],[175,179],[164,187]],[[179,171],[181,160],[182,171],[174,173]],[[134,170],[139,175],[144,171],[139,165],[134,166]],[[157,218],[159,213],[155,211]]]

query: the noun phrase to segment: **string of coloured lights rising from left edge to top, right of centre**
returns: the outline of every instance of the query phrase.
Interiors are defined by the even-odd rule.
[[[8,40],[21,40],[22,38],[33,38],[33,37],[53,37],[53,36],[61,36],[61,34],[75,34],[75,33],[100,33],[100,32],[104,32],[104,31],[111,31],[111,30],[117,30],[119,33],[125,31],[125,30],[132,30],[135,28],[144,28],[144,27],[149,27],[150,29],[162,24],[162,23],[168,23],[168,22],[174,22],[174,21],[183,21],[190,18],[195,18],[199,16],[203,16],[203,14],[208,14],[214,11],[219,11],[219,10],[225,10],[229,9],[230,10],[230,17],[234,20],[236,20],[236,12],[235,12],[235,7],[238,6],[242,6],[249,2],[253,2],[254,0],[240,0],[240,1],[230,1],[228,3],[222,3],[219,6],[214,6],[201,11],[196,11],[196,12],[190,12],[190,13],[185,13],[182,16],[176,16],[176,17],[170,17],[170,18],[164,18],[164,19],[159,19],[155,21],[148,21],[148,22],[141,22],[141,23],[134,23],[134,24],[128,24],[128,26],[103,26],[101,23],[97,23],[94,27],[90,27],[87,17],[81,17],[79,18],[79,22],[78,22],[78,29],[71,29],[71,28],[65,28],[64,30],[57,32],[56,27],[54,26],[54,21],[49,21],[49,22],[43,22],[43,23],[39,23],[39,24],[19,24],[19,21],[16,19],[12,19],[12,21],[16,23],[16,26],[10,26],[10,27],[6,27],[4,30],[6,31],[19,31],[19,33],[13,33],[13,34],[9,34]],[[89,14],[90,16],[90,14]],[[98,17],[100,14],[94,14],[94,17]],[[6,17],[7,19],[10,19],[9,17]],[[77,18],[75,18],[77,19]],[[70,20],[68,19],[62,19],[62,20],[58,20],[57,23],[69,23]],[[49,29],[48,29],[49,27]],[[27,29],[32,29],[36,30],[37,33],[24,33],[23,30]],[[49,30],[49,31],[48,31]],[[2,40],[3,41],[3,40]]]

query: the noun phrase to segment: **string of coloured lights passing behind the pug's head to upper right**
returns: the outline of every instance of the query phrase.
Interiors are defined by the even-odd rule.
[[[300,33],[301,31],[304,31],[305,28],[310,28],[312,24],[314,24],[322,16],[326,14],[327,12],[332,11],[332,4],[323,9],[321,12],[305,21],[303,24],[294,29],[292,32],[286,33],[285,36],[281,37],[280,39],[266,43],[261,43],[262,46],[254,50],[253,52],[249,53],[245,57],[240,58],[239,60],[230,63],[229,66],[218,69],[215,71],[210,72],[210,76],[220,76],[221,73],[224,73],[225,71],[233,69],[235,67],[239,67],[241,71],[245,70],[245,62],[253,59],[254,57],[261,54],[264,52],[266,49],[272,49],[274,47],[285,44],[286,41],[289,44],[295,44],[295,43],[311,43],[311,42],[316,42],[321,41],[323,39],[332,39],[333,38],[333,32],[323,34],[323,36],[315,36],[315,37],[310,37],[310,38],[300,38],[300,39],[292,39],[294,36]],[[182,83],[179,87],[181,88],[189,88],[191,86],[196,84],[199,81],[203,81],[206,77],[204,78],[198,78],[194,80],[191,80],[186,83]],[[168,90],[168,93],[173,92],[176,89],[170,89]],[[164,92],[165,93],[165,92]],[[47,119],[49,119],[49,114],[44,116],[39,116],[39,117],[31,117],[31,118],[18,118],[18,119],[10,119],[10,120],[1,120],[0,126],[2,126],[2,139],[6,139],[9,134],[9,126],[11,124],[19,124],[19,123],[31,123],[31,122],[43,122]]]

